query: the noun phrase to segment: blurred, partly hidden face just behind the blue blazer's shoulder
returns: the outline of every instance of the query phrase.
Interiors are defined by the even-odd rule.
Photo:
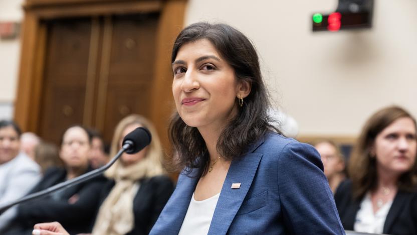
[[[320,154],[324,167],[324,175],[327,178],[331,178],[335,174],[343,171],[345,164],[340,159],[340,156],[337,156],[337,150],[333,145],[327,142],[321,142],[315,148]]]

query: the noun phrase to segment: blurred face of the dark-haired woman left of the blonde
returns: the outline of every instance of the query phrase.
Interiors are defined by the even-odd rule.
[[[90,153],[88,134],[80,127],[68,129],[63,137],[60,157],[65,165],[70,168],[88,167]]]

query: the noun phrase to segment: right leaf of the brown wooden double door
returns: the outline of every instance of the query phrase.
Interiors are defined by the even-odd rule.
[[[107,95],[106,100],[98,101],[105,103],[101,129],[107,141],[128,114],[150,117],[157,20],[157,14],[115,16],[111,20]]]

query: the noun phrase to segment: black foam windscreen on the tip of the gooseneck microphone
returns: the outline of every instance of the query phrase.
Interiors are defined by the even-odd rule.
[[[151,140],[152,137],[148,129],[143,127],[136,128],[123,139],[123,145],[126,144],[126,142],[132,145],[131,148],[127,149],[125,152],[128,154],[137,153],[149,145]]]

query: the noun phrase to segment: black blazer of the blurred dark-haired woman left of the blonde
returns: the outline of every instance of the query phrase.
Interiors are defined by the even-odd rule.
[[[91,170],[89,168],[87,171]],[[44,190],[66,180],[67,172],[51,168],[30,193]],[[98,208],[101,188],[107,182],[98,176],[69,188],[64,188],[39,200],[23,203],[18,207],[17,217],[6,234],[32,234],[35,223],[60,222],[70,234],[85,232]],[[69,202],[69,199],[76,199]]]

